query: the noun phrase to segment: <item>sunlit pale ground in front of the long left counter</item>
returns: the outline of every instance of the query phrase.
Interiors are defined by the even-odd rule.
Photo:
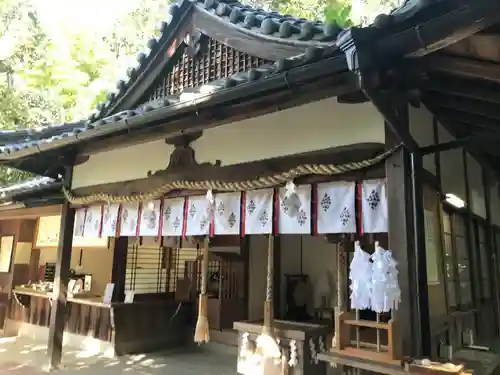
[[[0,375],[41,375],[47,363],[47,345],[28,338],[0,338]],[[106,355],[65,349],[61,375],[236,375],[236,356],[190,349],[165,353]]]

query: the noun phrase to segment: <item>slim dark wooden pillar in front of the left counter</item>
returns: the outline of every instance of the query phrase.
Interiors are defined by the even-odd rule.
[[[64,185],[71,186],[72,166],[66,167]],[[73,246],[73,231],[75,226],[75,209],[68,201],[61,208],[61,225],[59,244],[57,246],[56,273],[54,276],[54,292],[50,312],[49,342],[47,354],[49,368],[56,369],[61,364],[62,340],[66,321],[66,299],[68,289],[71,250]]]

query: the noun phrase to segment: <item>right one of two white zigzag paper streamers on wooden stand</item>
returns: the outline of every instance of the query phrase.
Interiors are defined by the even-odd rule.
[[[401,301],[398,285],[398,271],[392,252],[383,249],[375,242],[375,252],[371,255],[372,272],[372,310],[377,313],[397,309]]]

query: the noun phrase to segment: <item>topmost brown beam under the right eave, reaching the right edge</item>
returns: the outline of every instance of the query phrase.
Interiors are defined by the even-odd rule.
[[[427,56],[423,63],[433,72],[500,83],[500,64],[445,54]]]

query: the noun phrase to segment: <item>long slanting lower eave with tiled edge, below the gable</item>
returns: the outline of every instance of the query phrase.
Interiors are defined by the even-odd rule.
[[[344,56],[337,47],[310,47],[301,56],[282,59],[274,64],[236,73],[135,110],[123,111],[95,122],[87,120],[78,127],[60,126],[61,132],[55,135],[53,128],[41,128],[37,133],[22,132],[18,138],[15,133],[9,133],[9,141],[13,143],[0,147],[0,162],[5,163],[50,149],[100,138],[154,121],[168,120],[172,115],[199,110],[204,106],[220,104],[230,99],[240,97],[244,100],[249,93],[256,91],[265,92],[274,88],[287,87],[295,81],[301,82],[304,79],[314,79],[325,74],[346,71]],[[45,132],[50,133],[45,135]],[[31,138],[32,134],[35,134],[33,138]]]

